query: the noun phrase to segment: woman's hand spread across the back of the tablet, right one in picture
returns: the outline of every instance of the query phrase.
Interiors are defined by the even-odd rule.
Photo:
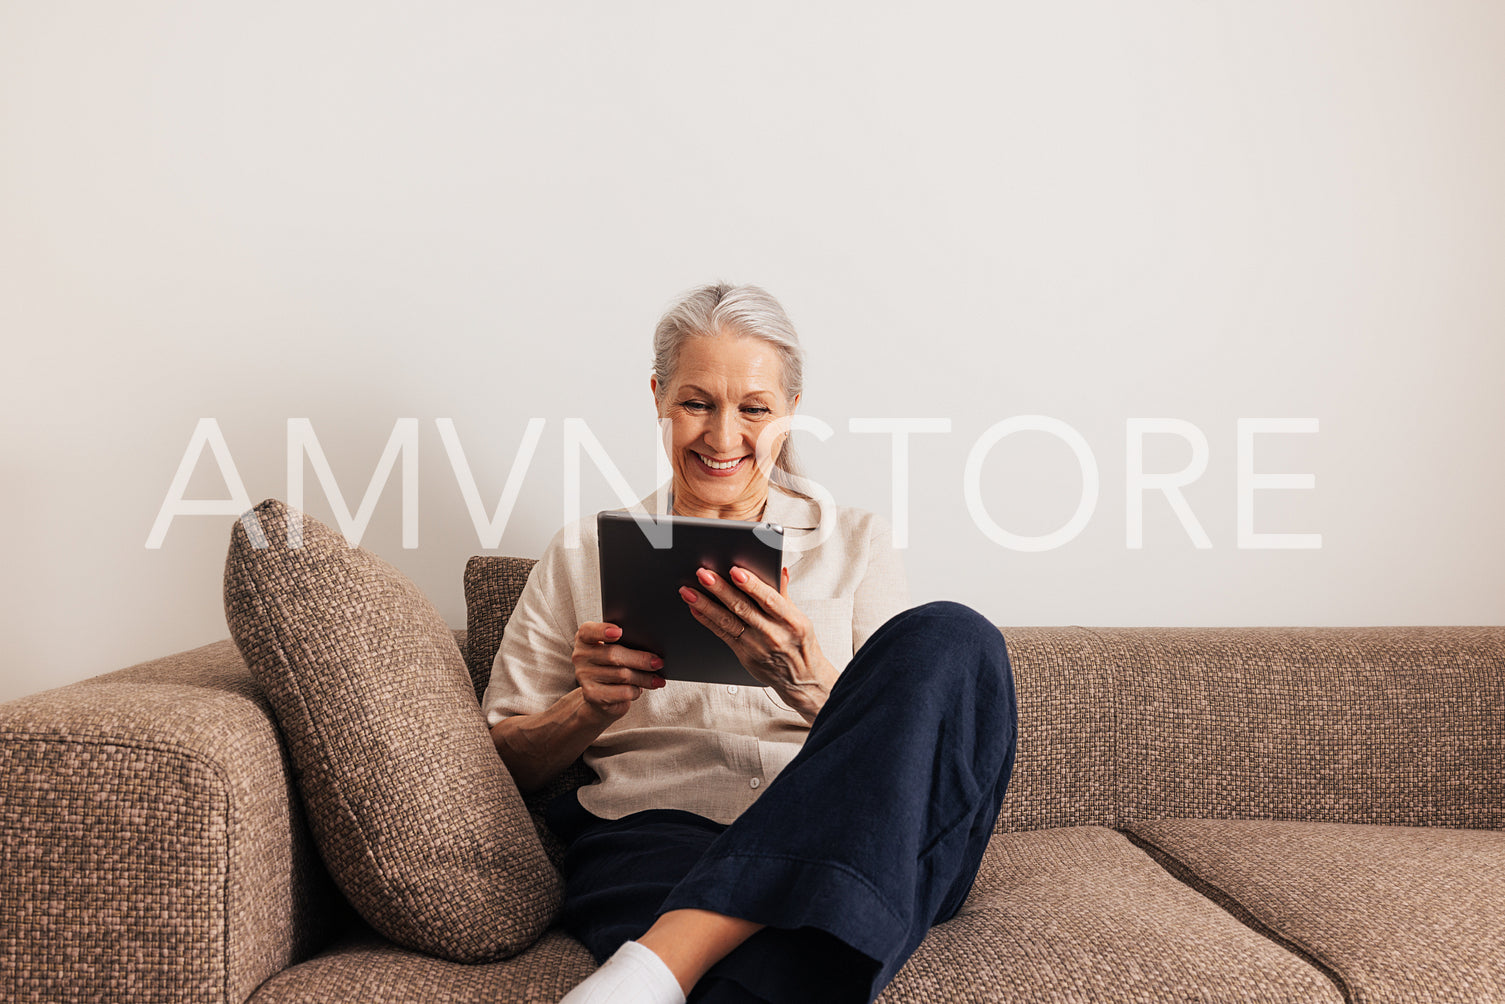
[[[704,592],[679,590],[689,613],[731,647],[754,679],[777,689],[813,723],[837,680],[837,668],[820,652],[810,617],[789,599],[789,569],[783,569],[777,592],[737,566],[730,569],[730,583],[709,569],[695,575]]]

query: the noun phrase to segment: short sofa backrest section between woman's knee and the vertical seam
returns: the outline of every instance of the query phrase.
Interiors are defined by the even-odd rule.
[[[1019,751],[998,831],[1112,825],[1112,674],[1084,628],[1004,628]]]

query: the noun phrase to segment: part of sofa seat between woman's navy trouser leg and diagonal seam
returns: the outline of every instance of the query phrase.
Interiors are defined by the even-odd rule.
[[[1097,826],[999,834],[966,905],[930,930],[882,1004],[1338,1004],[1285,948]]]

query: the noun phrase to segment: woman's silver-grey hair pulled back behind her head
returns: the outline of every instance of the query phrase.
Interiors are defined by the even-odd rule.
[[[670,304],[653,330],[653,376],[658,397],[664,399],[670,376],[679,367],[679,354],[688,339],[743,337],[766,342],[778,354],[784,399],[793,402],[805,387],[805,351],[784,307],[760,286],[707,283],[683,294]],[[774,458],[772,482],[796,495],[801,477],[790,437]]]

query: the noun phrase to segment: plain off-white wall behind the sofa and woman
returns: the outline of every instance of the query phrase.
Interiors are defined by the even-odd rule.
[[[640,9],[641,8],[641,9]],[[1002,625],[1505,622],[1505,8],[1490,0],[1123,5],[0,3],[6,437],[0,697],[224,637],[230,518],[144,546],[202,417],[251,498],[307,417],[346,501],[420,420],[420,546],[396,479],[363,543],[464,623],[480,545],[435,418],[498,498],[500,551],[561,522],[563,423],[653,488],[649,333],[679,291],[778,295],[804,437],[840,501],[892,513],[914,440],[915,599]],[[1100,498],[1069,543],[993,543],[963,498],[995,423],[1078,431]],[[1126,546],[1126,423],[1209,443]],[[1240,417],[1255,530],[1237,540]],[[1189,446],[1153,437],[1145,468]],[[582,512],[613,506],[587,465]],[[312,471],[310,471],[312,479]],[[309,509],[333,510],[310,482]],[[193,492],[226,495],[205,456]],[[1002,441],[990,518],[1047,533],[1082,492]]]

